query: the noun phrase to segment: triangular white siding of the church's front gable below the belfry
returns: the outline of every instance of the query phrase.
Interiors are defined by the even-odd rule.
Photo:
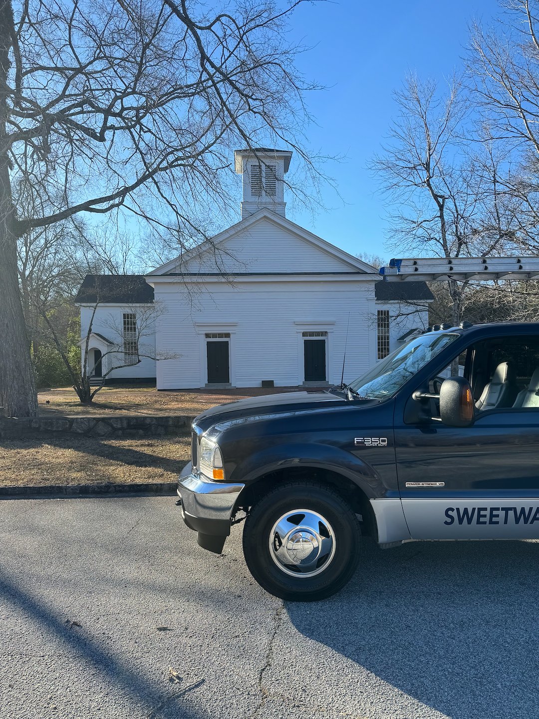
[[[216,251],[180,263],[181,273],[306,273],[356,270],[298,235],[262,218],[221,242]]]

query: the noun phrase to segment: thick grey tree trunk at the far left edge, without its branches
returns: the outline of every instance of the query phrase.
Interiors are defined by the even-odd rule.
[[[13,417],[37,416],[37,394],[17,275],[17,240],[6,153],[6,96],[11,3],[0,0],[0,406]]]

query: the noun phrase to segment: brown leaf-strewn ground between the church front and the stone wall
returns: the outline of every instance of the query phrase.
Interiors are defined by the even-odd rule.
[[[246,397],[290,392],[295,388],[242,388],[240,390],[175,390],[159,391],[155,387],[103,387],[91,405],[81,405],[70,387],[44,390],[38,393],[42,415],[95,414],[200,414],[209,407]]]

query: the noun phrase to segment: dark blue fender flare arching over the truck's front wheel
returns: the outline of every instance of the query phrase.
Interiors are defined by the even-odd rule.
[[[383,497],[386,488],[376,470],[355,454],[329,444],[277,444],[236,465],[231,482],[249,485],[270,472],[287,468],[313,467],[336,472],[354,482],[369,499]]]

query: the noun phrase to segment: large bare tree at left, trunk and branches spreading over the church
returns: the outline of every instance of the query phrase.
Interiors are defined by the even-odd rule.
[[[0,0],[0,344],[9,347],[0,403],[8,413],[37,413],[17,238],[80,213],[121,211],[188,249],[206,239],[193,218],[231,206],[238,144],[285,143],[315,179],[303,150],[311,86],[294,66],[301,48],[283,40],[301,1],[224,3],[211,13],[186,0]],[[307,187],[295,190],[305,197]]]

